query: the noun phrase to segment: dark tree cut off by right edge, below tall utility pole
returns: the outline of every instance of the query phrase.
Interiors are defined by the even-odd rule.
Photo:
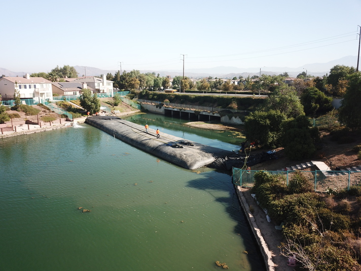
[[[340,120],[351,129],[361,128],[361,72],[348,78],[348,85],[339,109]]]

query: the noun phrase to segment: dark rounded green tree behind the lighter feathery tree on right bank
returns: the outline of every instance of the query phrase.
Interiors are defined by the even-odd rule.
[[[301,103],[307,116],[327,113],[332,110],[332,98],[316,87],[309,87],[301,95]]]

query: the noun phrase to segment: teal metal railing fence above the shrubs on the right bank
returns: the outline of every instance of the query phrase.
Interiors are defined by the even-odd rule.
[[[243,187],[254,186],[254,175],[258,171],[241,170],[233,167],[232,180],[235,185]],[[282,175],[285,184],[293,178],[296,171],[265,171],[271,175]],[[328,189],[349,190],[351,187],[361,187],[361,171],[300,171],[314,184],[314,191],[326,192]]]

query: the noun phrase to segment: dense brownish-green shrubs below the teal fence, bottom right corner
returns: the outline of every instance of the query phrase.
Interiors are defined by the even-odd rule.
[[[308,270],[361,270],[361,189],[315,193],[302,172],[285,183],[284,176],[260,171],[252,188],[261,208],[284,224],[281,254]]]

